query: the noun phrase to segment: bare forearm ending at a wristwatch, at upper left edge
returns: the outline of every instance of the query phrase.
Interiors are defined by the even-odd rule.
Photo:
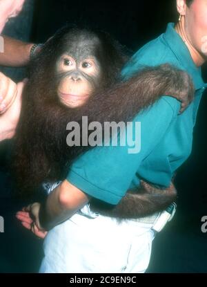
[[[0,65],[25,66],[30,59],[32,43],[25,43],[7,36],[3,37],[3,53],[0,53]]]

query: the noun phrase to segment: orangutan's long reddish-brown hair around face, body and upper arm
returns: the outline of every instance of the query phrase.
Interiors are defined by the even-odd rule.
[[[78,35],[99,39],[97,55],[103,78],[99,89],[83,107],[70,109],[59,102],[55,81],[57,58],[70,53]],[[69,41],[69,40],[70,41]],[[91,147],[68,147],[66,126],[79,122],[127,122],[161,95],[193,96],[193,85],[184,72],[171,66],[144,68],[126,82],[119,81],[126,55],[105,33],[63,28],[43,47],[31,63],[30,80],[23,91],[21,119],[14,147],[14,171],[21,190],[33,190],[41,183],[59,180],[72,161]],[[117,83],[117,84],[115,84]]]

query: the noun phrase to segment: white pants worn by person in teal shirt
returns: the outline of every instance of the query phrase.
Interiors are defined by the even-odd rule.
[[[86,205],[48,232],[39,272],[145,272],[154,237],[152,223],[117,223]]]

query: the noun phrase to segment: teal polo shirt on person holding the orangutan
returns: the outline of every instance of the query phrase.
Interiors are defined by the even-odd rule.
[[[125,147],[96,147],[79,156],[67,180],[86,194],[117,204],[127,190],[139,186],[140,178],[168,187],[175,170],[188,158],[193,142],[197,109],[206,84],[188,48],[168,24],[166,33],[137,51],[122,71],[127,79],[144,66],[170,63],[187,71],[195,84],[195,100],[179,115],[180,102],[163,95],[152,107],[137,114],[141,122],[141,149],[128,153]]]

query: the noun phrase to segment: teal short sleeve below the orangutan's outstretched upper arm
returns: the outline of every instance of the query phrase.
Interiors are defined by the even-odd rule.
[[[66,179],[86,194],[116,205],[130,187],[141,161],[159,145],[179,108],[175,98],[161,97],[132,122],[133,136],[137,132],[135,123],[141,124],[141,132],[135,138],[139,152],[133,153],[130,144],[95,147],[75,160]]]

